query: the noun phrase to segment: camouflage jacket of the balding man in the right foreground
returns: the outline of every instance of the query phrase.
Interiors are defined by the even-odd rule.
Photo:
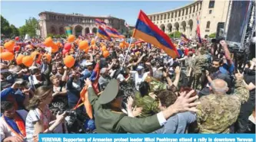
[[[242,80],[235,82],[234,95],[205,95],[199,100],[197,119],[199,132],[204,134],[229,133],[237,120],[241,104],[247,102],[249,91]]]

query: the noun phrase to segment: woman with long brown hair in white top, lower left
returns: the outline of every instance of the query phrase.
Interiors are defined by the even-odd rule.
[[[29,101],[28,116],[26,118],[26,136],[28,141],[38,141],[38,134],[53,133],[58,124],[62,124],[62,115],[52,115],[48,105],[52,102],[52,86],[40,86]]]

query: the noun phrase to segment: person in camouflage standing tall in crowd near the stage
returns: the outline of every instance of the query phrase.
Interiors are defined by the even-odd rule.
[[[200,78],[203,73],[202,70],[204,69],[205,66],[208,66],[207,56],[205,54],[195,56],[194,67],[193,67],[193,77],[194,77],[194,82],[192,84],[193,89],[201,90],[201,87],[203,87],[203,86],[198,86],[198,85],[200,85]]]

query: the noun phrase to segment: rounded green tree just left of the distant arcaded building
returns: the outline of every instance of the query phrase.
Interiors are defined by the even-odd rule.
[[[22,36],[28,34],[30,37],[36,37],[36,31],[39,29],[38,20],[36,18],[29,18],[25,20],[25,25],[19,27],[18,31]]]

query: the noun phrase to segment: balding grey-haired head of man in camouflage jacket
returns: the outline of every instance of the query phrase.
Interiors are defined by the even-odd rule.
[[[214,92],[223,94],[225,92],[228,92],[228,83],[222,79],[214,79],[211,82],[211,89]]]

